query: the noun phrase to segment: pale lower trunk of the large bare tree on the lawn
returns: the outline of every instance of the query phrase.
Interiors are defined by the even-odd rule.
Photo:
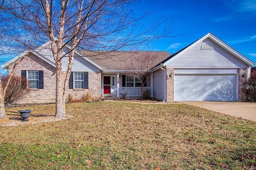
[[[66,117],[65,100],[63,98],[61,61],[56,62],[56,112],[55,117]]]

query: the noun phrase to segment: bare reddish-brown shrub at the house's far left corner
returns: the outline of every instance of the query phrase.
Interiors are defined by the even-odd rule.
[[[2,76],[3,89],[6,87],[6,84],[9,78],[10,78],[9,75]],[[15,104],[17,102],[20,102],[28,94],[28,91],[26,90],[26,88],[27,88],[26,78],[13,75],[6,89],[4,102],[6,102],[7,104]]]

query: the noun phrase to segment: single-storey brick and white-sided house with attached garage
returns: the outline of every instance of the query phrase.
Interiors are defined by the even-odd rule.
[[[30,82],[28,96],[20,103],[55,102],[55,63],[45,43],[34,51],[25,51],[3,64],[12,70],[14,62],[21,60],[14,74],[25,76]],[[66,47],[68,50],[68,47]],[[140,96],[141,81],[127,74],[131,51],[106,53],[111,57],[88,55],[76,51],[68,94],[81,98],[87,92],[95,98],[118,98],[120,93]],[[170,55],[168,52],[149,52],[157,55],[152,72],[146,78],[145,90],[151,97],[166,102],[174,101],[241,101],[241,84],[246,81],[248,67],[253,66],[244,55],[208,33],[184,49]],[[95,52],[94,52],[95,54]],[[26,57],[24,57],[26,56]],[[62,71],[68,59],[62,61]]]

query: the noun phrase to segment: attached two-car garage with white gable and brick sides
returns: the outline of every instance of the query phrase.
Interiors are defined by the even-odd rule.
[[[254,63],[208,33],[156,67],[165,69],[166,101],[241,101]]]

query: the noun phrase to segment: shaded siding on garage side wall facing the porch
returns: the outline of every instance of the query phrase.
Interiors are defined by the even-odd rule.
[[[157,70],[154,72],[154,98],[164,100],[164,70]]]

